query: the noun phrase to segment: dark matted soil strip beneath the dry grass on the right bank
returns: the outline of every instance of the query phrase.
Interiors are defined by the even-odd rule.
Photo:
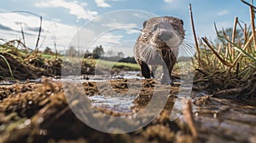
[[[247,78],[226,72],[195,72],[194,84],[195,91],[205,91],[216,98],[256,103],[256,72]]]

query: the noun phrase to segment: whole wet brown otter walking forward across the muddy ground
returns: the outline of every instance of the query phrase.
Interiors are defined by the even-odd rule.
[[[135,59],[143,77],[154,77],[156,66],[160,65],[163,67],[161,83],[173,85],[172,68],[184,36],[183,20],[176,17],[153,17],[144,21],[142,34],[134,45]]]

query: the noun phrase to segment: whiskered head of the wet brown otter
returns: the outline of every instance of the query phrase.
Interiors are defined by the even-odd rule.
[[[154,17],[143,23],[142,37],[156,49],[177,49],[184,36],[183,20],[174,17]]]

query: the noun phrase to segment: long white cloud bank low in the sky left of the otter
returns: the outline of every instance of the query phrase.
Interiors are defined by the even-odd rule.
[[[39,27],[40,20],[38,17],[30,16],[27,14],[0,13],[1,26],[9,27],[12,29],[0,29],[0,33],[2,33],[1,38],[6,39],[7,41],[13,39],[22,39],[20,32],[20,21],[22,21],[24,32],[26,32],[26,46],[33,49],[37,41],[38,31],[31,31],[31,29]],[[128,26],[133,25],[130,24]],[[54,50],[55,45],[51,36],[56,37],[58,51],[63,51],[70,45],[77,46],[78,43],[80,46],[85,45],[84,49],[89,49],[87,46],[90,45],[91,42],[93,43],[91,44],[90,48],[95,48],[97,45],[102,45],[104,49],[107,50],[117,47],[120,43],[122,43],[124,38],[124,36],[114,33],[105,33],[98,37],[98,33],[96,31],[90,30],[90,28],[86,29],[85,27],[78,29],[76,26],[61,24],[57,20],[43,20],[42,29],[43,31],[41,32],[41,38],[39,41],[39,46],[41,47],[39,48],[40,50],[44,50],[46,47]],[[78,33],[79,36],[77,35]]]

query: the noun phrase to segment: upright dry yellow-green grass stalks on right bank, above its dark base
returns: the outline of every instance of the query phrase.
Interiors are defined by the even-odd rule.
[[[251,26],[241,25],[236,17],[231,36],[225,30],[217,32],[218,40],[210,41],[207,37],[195,38],[199,43],[195,67],[210,74],[211,72],[226,72],[231,76],[251,77],[256,72],[256,31],[254,26],[254,7],[250,6]],[[243,36],[237,33],[242,31]]]

